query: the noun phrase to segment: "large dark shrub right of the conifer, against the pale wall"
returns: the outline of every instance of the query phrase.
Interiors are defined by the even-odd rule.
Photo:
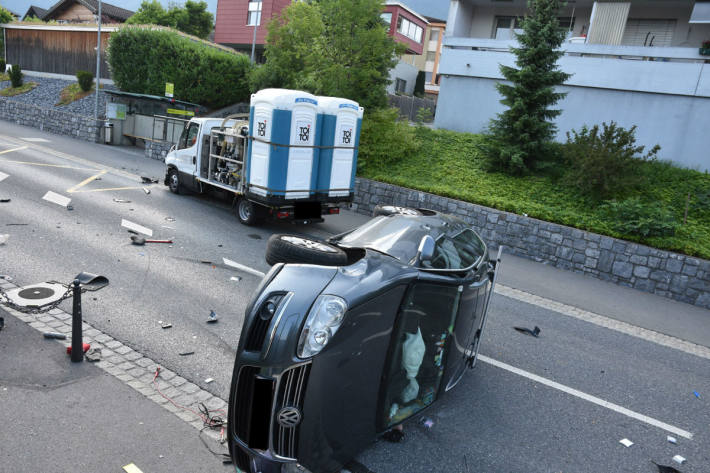
[[[636,145],[636,126],[629,129],[615,122],[602,127],[586,125],[567,132],[562,154],[566,171],[564,181],[580,194],[595,200],[622,197],[643,184],[642,161],[656,157],[660,146],[642,154]]]

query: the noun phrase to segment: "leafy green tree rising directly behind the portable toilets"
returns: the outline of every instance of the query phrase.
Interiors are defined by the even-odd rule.
[[[346,97],[374,110],[387,105],[389,71],[404,46],[387,35],[380,0],[296,2],[269,24],[266,64],[253,90],[300,88]]]

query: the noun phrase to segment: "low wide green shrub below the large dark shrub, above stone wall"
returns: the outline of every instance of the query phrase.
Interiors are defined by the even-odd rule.
[[[673,236],[678,222],[673,214],[655,202],[643,202],[638,197],[612,200],[601,206],[612,222],[612,228],[623,235],[641,237]]]

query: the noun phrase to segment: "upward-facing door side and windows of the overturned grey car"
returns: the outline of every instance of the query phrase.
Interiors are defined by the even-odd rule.
[[[465,222],[441,214],[377,217],[336,243],[346,248],[369,248],[410,264],[417,256],[419,242],[425,235],[431,235],[436,246],[432,260],[426,262],[423,269],[467,269],[478,261],[486,248]]]

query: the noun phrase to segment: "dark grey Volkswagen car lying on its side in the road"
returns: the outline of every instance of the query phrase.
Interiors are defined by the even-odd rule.
[[[229,397],[240,470],[338,471],[474,366],[500,251],[453,216],[376,214],[326,241],[269,240]]]

